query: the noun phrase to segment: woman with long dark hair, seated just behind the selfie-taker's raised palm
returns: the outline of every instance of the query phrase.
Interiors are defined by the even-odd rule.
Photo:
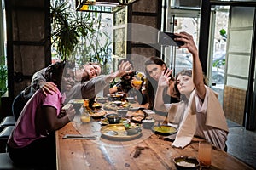
[[[151,57],[145,62],[146,96],[148,99],[148,109],[154,108],[154,99],[159,78],[163,71],[166,71],[166,63],[159,57]],[[174,88],[175,79],[170,75],[170,85],[165,88],[163,95],[164,103],[177,103],[179,101],[179,93]],[[162,113],[161,111],[156,111]]]

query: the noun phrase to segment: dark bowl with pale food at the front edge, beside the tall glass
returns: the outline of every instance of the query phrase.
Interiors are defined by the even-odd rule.
[[[199,161],[195,157],[177,156],[173,158],[177,169],[199,169]]]

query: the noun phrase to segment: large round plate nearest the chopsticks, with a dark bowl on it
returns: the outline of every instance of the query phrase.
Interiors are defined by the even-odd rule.
[[[142,136],[141,128],[125,128],[122,124],[109,124],[101,128],[102,138],[111,140],[131,140]]]

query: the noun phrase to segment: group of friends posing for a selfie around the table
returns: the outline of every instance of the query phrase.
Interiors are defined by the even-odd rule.
[[[172,77],[172,70],[158,57],[149,57],[145,72],[140,74],[142,84],[134,84],[137,71],[129,59],[119,62],[117,71],[101,75],[101,67],[88,63],[74,71],[67,61],[56,62],[38,71],[32,85],[14,100],[15,127],[8,141],[10,158],[20,166],[38,166],[54,169],[55,131],[71,122],[75,110],[71,105],[62,109],[70,99],[94,99],[103,88],[109,93],[125,92],[134,96],[140,105],[167,117],[177,125],[172,147],[183,149],[194,136],[226,150],[229,133],[218,94],[207,87],[198,51],[193,37],[186,32],[176,33],[179,48],[187,48],[193,58],[193,69],[183,70]],[[118,80],[119,78],[119,80]]]

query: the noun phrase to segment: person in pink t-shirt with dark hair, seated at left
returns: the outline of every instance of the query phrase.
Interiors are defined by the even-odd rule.
[[[56,91],[44,94],[38,89],[28,100],[8,140],[9,156],[17,165],[55,169],[55,130],[73,120],[73,105],[59,117],[65,93],[74,84],[73,65],[66,61],[50,65],[46,80],[56,84]],[[43,168],[44,167],[44,168]]]

